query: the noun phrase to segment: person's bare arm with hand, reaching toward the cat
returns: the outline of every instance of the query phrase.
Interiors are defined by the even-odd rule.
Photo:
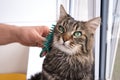
[[[47,26],[21,26],[0,24],[0,45],[18,42],[25,46],[42,46],[49,33]]]

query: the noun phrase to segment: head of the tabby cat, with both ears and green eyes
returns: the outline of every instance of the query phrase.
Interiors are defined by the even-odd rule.
[[[99,17],[84,22],[74,20],[61,5],[53,46],[69,55],[88,53],[93,48],[94,33],[100,21]]]

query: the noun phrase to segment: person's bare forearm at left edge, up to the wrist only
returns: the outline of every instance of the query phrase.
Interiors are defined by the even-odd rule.
[[[0,24],[0,45],[17,41],[18,27]]]

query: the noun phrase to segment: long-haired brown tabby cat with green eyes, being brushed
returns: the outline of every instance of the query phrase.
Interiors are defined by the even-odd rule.
[[[93,43],[100,17],[77,21],[60,6],[51,51],[30,80],[94,80]]]

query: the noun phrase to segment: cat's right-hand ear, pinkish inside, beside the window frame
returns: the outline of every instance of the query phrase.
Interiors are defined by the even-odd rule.
[[[88,22],[86,22],[86,26],[92,30],[92,32],[94,33],[95,30],[97,29],[97,27],[100,25],[101,23],[101,18],[100,17],[96,17],[93,18],[91,20],[89,20]]]

